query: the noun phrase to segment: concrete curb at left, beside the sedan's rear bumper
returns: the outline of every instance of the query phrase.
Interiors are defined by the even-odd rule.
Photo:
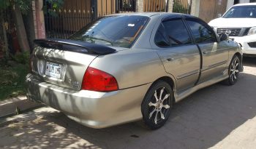
[[[42,106],[42,104],[32,102],[25,96],[12,97],[8,100],[0,101],[0,118],[13,116],[21,113],[22,111],[40,106]]]

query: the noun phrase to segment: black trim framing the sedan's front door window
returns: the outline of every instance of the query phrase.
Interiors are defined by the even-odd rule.
[[[208,30],[210,30],[212,33],[214,33],[215,41],[214,42],[213,41],[203,41],[203,42],[200,42],[200,43],[196,43],[195,42],[195,38],[193,36],[193,33],[191,31],[191,28],[189,27],[189,24],[187,23],[187,20],[191,20],[191,21],[194,21],[196,23],[200,23],[201,25],[204,25]],[[187,25],[187,27],[189,29],[189,32],[191,33],[192,39],[193,39],[195,44],[209,44],[209,43],[219,42],[218,39],[217,39],[216,33],[214,32],[214,30],[206,22],[204,22],[203,20],[200,20],[200,19],[198,19],[196,17],[185,17],[184,18],[184,22]]]

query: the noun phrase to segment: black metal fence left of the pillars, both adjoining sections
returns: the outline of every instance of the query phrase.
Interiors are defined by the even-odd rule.
[[[59,9],[44,1],[44,8],[47,38],[67,39],[97,17],[135,12],[135,0],[66,0]]]

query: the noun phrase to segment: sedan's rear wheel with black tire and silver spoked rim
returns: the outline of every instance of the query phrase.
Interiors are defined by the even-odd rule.
[[[170,116],[173,91],[165,81],[155,82],[141,104],[143,121],[150,129],[159,129]]]

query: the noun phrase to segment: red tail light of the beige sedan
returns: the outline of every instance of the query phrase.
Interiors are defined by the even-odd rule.
[[[82,89],[97,92],[110,92],[118,90],[118,84],[116,78],[112,75],[89,67],[83,76]]]

